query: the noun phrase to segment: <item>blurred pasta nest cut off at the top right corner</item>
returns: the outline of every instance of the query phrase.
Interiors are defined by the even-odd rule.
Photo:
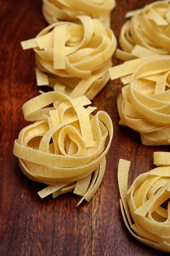
[[[128,61],[170,54],[170,0],[156,1],[125,17],[130,20],[122,26],[119,44],[123,51],[116,51],[117,58]]]

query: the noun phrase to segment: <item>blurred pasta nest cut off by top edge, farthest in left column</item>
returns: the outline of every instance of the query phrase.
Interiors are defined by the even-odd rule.
[[[78,21],[78,15],[98,18],[110,27],[110,14],[115,0],[42,0],[42,14],[48,24],[58,20]]]

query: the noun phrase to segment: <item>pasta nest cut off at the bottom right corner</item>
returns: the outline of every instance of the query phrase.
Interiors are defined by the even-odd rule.
[[[159,163],[155,155],[154,162]],[[170,253],[170,165],[139,175],[127,190],[129,167],[129,161],[119,160],[120,206],[126,227],[143,244]]]

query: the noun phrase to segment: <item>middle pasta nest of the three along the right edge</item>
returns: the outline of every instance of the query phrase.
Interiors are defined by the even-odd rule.
[[[119,124],[138,131],[144,145],[169,145],[170,56],[126,61],[109,73],[125,85],[117,100]]]

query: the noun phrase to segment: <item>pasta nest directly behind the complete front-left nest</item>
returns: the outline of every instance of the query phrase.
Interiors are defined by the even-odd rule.
[[[99,20],[79,19],[82,24],[54,23],[21,45],[36,52],[37,85],[49,85],[72,98],[94,99],[109,80],[116,38]]]

